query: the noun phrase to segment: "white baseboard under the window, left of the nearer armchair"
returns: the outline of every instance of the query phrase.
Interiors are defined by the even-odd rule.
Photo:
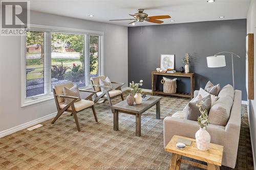
[[[0,132],[0,138],[1,138],[1,137],[4,137],[4,136],[7,136],[7,135],[10,135],[10,134],[12,134],[12,133],[15,133],[15,132],[17,132],[17,131],[20,131],[20,130],[23,130],[23,129],[27,129],[27,128],[32,127],[32,126],[34,126],[34,125],[36,125],[36,124],[39,124],[39,123],[41,123],[41,122],[45,122],[46,120],[49,120],[49,119],[55,117],[56,114],[57,114],[57,112],[52,113],[52,114],[49,114],[49,115],[46,115],[46,116],[44,116],[44,117],[37,118],[37,119],[32,120],[32,121],[30,121],[30,122],[27,122],[27,123],[25,123],[25,124],[18,125],[18,126],[16,126],[16,127],[13,127],[13,128],[7,129],[7,130],[4,130],[4,131]]]

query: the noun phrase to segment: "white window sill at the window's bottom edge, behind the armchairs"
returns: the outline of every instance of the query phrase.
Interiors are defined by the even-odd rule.
[[[92,88],[91,85],[80,87],[79,89],[90,89],[90,88]],[[32,99],[32,98],[24,99],[24,101],[22,102],[21,107],[26,107],[26,106],[29,106],[29,105],[34,105],[34,104],[45,102],[45,101],[49,101],[49,100],[52,100],[52,99],[54,99],[53,93],[47,94],[47,95],[36,96],[36,99]]]

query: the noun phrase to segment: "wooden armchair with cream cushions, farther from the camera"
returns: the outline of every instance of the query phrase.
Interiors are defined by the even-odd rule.
[[[121,87],[124,85],[124,83],[111,82],[112,84],[117,85],[117,87],[112,89],[113,87],[99,85],[99,79],[104,80],[105,76],[91,78],[93,89],[94,89],[94,91],[96,91],[96,98],[94,100],[94,103],[98,102],[98,100],[100,100],[100,99],[104,99],[103,103],[106,100],[108,100],[109,105],[112,106],[111,99],[116,98],[117,96],[121,96],[121,99],[123,100],[123,94],[122,94]],[[106,87],[106,88],[109,87],[109,89],[105,90],[105,91],[101,91],[100,87]]]

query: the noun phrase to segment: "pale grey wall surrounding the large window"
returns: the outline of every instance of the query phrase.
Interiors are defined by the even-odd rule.
[[[31,12],[31,23],[104,32],[104,74],[127,86],[127,27],[41,12]],[[0,36],[0,136],[4,130],[56,112],[53,100],[20,107],[21,38]]]

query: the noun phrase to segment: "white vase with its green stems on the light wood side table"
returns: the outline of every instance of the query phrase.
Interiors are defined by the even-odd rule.
[[[210,144],[210,134],[206,131],[206,128],[209,124],[208,120],[208,110],[203,109],[202,107],[203,101],[200,101],[197,104],[201,115],[198,117],[197,122],[200,125],[200,129],[196,132],[196,141],[197,141],[197,148],[201,151],[207,151],[209,149]]]

